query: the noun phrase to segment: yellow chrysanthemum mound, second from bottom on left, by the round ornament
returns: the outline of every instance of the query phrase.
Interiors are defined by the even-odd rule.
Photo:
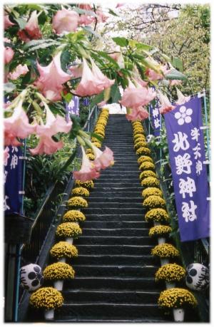
[[[44,278],[50,281],[73,279],[74,274],[75,271],[73,268],[64,262],[49,264],[49,266],[46,266],[46,269],[44,269]]]

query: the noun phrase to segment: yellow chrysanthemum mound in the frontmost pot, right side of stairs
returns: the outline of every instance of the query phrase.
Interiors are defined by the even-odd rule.
[[[158,299],[158,306],[162,308],[185,308],[197,306],[195,296],[187,289],[166,289],[162,291]]]

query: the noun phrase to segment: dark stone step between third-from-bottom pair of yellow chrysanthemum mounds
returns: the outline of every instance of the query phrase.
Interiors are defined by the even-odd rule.
[[[128,255],[141,255],[151,254],[153,249],[152,245],[101,245],[91,244],[78,245],[78,254],[128,254]]]

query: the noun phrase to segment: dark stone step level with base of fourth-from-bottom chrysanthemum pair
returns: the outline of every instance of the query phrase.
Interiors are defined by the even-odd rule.
[[[78,244],[110,244],[110,245],[156,245],[156,239],[151,237],[92,237],[81,236],[73,241],[73,244],[78,247]]]

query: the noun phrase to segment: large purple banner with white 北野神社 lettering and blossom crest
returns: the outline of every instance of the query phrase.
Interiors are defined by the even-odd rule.
[[[164,115],[180,240],[209,237],[210,206],[200,98]]]

